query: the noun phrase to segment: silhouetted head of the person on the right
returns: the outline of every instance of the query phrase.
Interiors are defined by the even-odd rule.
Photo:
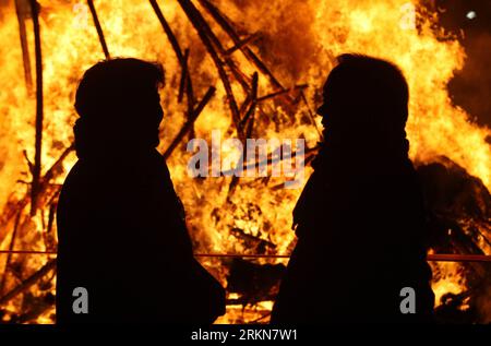
[[[361,55],[342,55],[337,61],[318,110],[326,141],[359,150],[407,152],[409,92],[400,70],[388,61]]]

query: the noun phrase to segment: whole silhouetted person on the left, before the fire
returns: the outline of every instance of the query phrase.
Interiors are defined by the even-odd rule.
[[[155,148],[163,82],[158,64],[115,59],[88,69],[79,85],[79,160],[58,204],[59,323],[212,323],[225,312],[225,291],[193,258]],[[87,314],[72,309],[75,287],[88,291]]]

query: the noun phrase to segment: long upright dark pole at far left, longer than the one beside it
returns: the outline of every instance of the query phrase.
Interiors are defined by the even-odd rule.
[[[31,187],[31,215],[36,214],[37,196],[40,183],[41,150],[43,150],[43,56],[39,28],[39,4],[29,0],[34,26],[34,49],[36,57],[36,138],[33,166],[33,184]]]

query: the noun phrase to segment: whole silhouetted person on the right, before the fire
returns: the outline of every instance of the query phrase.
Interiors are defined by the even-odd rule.
[[[323,97],[325,141],[294,210],[298,243],[272,322],[431,322],[406,80],[387,61],[343,55]],[[400,311],[404,287],[416,291],[416,314]]]

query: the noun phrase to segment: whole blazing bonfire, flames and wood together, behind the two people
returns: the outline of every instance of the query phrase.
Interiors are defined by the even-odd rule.
[[[451,100],[447,83],[466,52],[428,1],[11,0],[0,10],[0,321],[56,322],[56,208],[76,160],[76,83],[99,60],[135,57],[166,70],[159,151],[195,255],[227,287],[217,322],[267,322],[296,242],[291,211],[322,141],[314,109],[343,52],[394,61],[408,80],[439,319],[491,321],[491,132]],[[300,187],[284,189],[284,177],[190,177],[187,143],[209,143],[214,131],[242,143],[303,139]],[[243,154],[220,151],[229,160]],[[280,159],[268,153],[266,162]],[[128,282],[137,287],[132,273]]]

